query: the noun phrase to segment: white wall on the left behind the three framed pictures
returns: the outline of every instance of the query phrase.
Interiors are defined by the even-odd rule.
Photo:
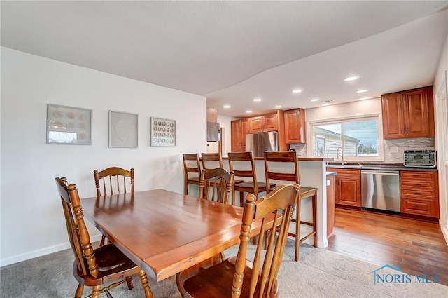
[[[45,144],[48,103],[93,109],[92,145]],[[206,109],[200,95],[1,48],[1,265],[69,247],[55,177],[95,196],[93,170],[115,165],[135,169],[136,191],[182,193],[181,154],[206,151]],[[139,148],[109,148],[109,110],[139,114]],[[150,146],[150,116],[176,120],[176,147]]]

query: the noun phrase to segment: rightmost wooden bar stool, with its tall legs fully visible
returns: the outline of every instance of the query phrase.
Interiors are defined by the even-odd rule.
[[[265,177],[266,183],[269,185],[272,180],[283,181],[283,182],[295,182],[300,184],[300,172],[297,161],[296,151],[286,151],[286,152],[268,152],[265,151]],[[267,188],[269,193],[270,189]],[[297,203],[297,210],[295,210],[295,233],[290,232],[289,236],[295,238],[295,261],[299,260],[299,245],[300,243],[306,241],[308,238],[313,237],[313,245],[317,247],[317,231],[316,231],[316,187],[301,187],[300,191],[300,201]],[[305,222],[300,220],[300,206],[304,199],[311,198],[312,205],[312,217],[313,222]],[[311,226],[311,232],[307,233],[305,236],[300,236],[300,224],[305,224]]]

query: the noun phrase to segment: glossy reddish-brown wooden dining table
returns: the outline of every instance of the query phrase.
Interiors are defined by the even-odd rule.
[[[164,189],[83,198],[85,217],[157,281],[239,243],[243,208]],[[272,222],[272,221],[271,221]],[[260,233],[253,222],[251,236]]]

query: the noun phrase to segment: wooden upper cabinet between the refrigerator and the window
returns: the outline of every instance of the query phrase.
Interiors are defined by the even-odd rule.
[[[305,111],[304,109],[290,109],[284,111],[286,144],[306,142]]]

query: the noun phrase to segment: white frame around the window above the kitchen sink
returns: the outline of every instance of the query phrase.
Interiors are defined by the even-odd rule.
[[[378,121],[378,156],[344,156],[344,161],[384,161],[384,140],[383,140],[383,127],[382,127],[382,118],[381,113],[378,114],[367,114],[363,116],[352,116],[352,117],[339,117],[339,118],[331,118],[325,120],[315,120],[309,121],[308,124],[308,140],[312,140],[307,143],[307,151],[309,152],[309,157],[320,157],[314,156],[314,143],[316,140],[313,138],[313,126],[327,125],[327,124],[335,124],[335,123],[344,123],[344,122],[352,122],[352,121],[368,121],[368,120],[377,120]],[[318,134],[316,134],[317,136]],[[340,159],[335,159],[335,161],[340,161]]]

